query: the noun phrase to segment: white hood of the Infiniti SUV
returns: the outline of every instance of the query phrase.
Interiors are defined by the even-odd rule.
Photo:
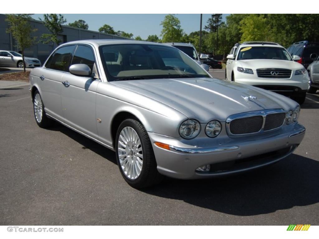
[[[252,60],[239,60],[237,61],[241,64],[241,67],[250,68],[253,70],[260,69],[260,68],[281,68],[281,69],[302,69],[304,68],[298,62],[294,61],[284,61],[284,60],[268,60],[268,59],[252,59]]]

